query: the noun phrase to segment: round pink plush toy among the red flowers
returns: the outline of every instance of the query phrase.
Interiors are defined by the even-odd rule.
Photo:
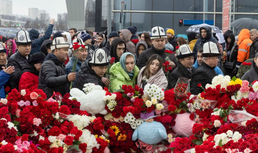
[[[191,113],[177,114],[175,126],[172,126],[177,137],[189,137],[192,135],[192,126],[196,123],[195,120],[189,118]]]

